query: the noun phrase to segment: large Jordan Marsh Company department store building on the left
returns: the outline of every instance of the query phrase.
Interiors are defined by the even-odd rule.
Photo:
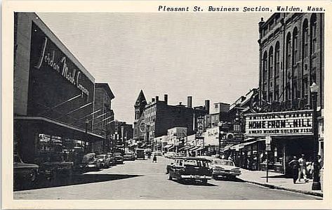
[[[35,13],[15,13],[14,145],[25,162],[91,152],[95,79]],[[67,155],[65,155],[67,154]]]

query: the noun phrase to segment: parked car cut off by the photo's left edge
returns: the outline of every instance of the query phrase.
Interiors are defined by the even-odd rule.
[[[38,173],[38,165],[24,163],[18,155],[14,155],[14,185],[18,183],[32,185]]]

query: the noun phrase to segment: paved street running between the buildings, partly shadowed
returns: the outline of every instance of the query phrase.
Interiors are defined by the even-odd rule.
[[[168,181],[166,164],[135,160],[101,171],[84,173],[81,182],[53,188],[14,192],[14,199],[321,199],[272,190],[242,181],[208,181],[207,185]]]

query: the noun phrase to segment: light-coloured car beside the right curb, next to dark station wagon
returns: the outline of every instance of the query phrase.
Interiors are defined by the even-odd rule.
[[[235,178],[241,174],[240,168],[227,159],[211,159],[212,176],[214,179],[221,177]]]

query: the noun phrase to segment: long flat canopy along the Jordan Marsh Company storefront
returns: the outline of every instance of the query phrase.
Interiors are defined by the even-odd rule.
[[[87,138],[88,142],[105,140],[105,136],[100,136],[89,131],[86,133],[83,129],[53,119],[48,119],[47,117],[15,116],[14,121],[23,124],[32,124],[34,128],[38,128],[41,132],[46,131],[49,133],[55,133],[55,135],[62,134],[63,136],[70,136],[70,138],[81,140]]]

